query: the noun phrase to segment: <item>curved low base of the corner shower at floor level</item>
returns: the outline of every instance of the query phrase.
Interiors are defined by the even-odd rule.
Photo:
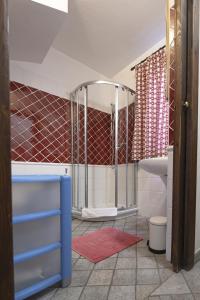
[[[91,221],[91,222],[104,222],[104,221],[115,221],[122,218],[127,218],[132,215],[136,215],[138,212],[138,208],[119,208],[117,210],[117,216],[111,216],[111,217],[99,217],[99,218],[83,218],[81,211],[72,209],[72,217],[75,219],[83,220],[83,221]]]

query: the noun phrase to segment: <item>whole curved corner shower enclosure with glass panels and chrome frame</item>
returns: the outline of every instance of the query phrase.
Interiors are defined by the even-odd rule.
[[[85,82],[71,93],[74,217],[83,208],[116,207],[115,218],[137,211],[134,102],[135,91],[110,81]]]

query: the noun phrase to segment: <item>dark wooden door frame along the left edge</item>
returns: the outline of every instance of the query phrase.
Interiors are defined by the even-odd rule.
[[[0,299],[14,299],[7,0],[0,0]]]

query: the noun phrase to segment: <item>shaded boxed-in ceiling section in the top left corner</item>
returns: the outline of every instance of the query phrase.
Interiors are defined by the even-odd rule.
[[[10,58],[41,63],[66,14],[30,0],[9,0]]]

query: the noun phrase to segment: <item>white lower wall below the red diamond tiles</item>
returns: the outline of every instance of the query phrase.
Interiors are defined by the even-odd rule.
[[[70,164],[14,162],[12,175],[71,175]],[[112,166],[89,165],[88,193],[90,207],[113,207],[115,199],[115,170]],[[80,165],[80,203],[84,196],[84,166]],[[119,165],[119,207],[125,206],[125,165]],[[135,179],[134,179],[134,176]],[[77,178],[77,177],[76,177]],[[148,173],[135,164],[128,166],[128,203],[135,203],[145,217],[166,215],[166,188],[160,176]]]

